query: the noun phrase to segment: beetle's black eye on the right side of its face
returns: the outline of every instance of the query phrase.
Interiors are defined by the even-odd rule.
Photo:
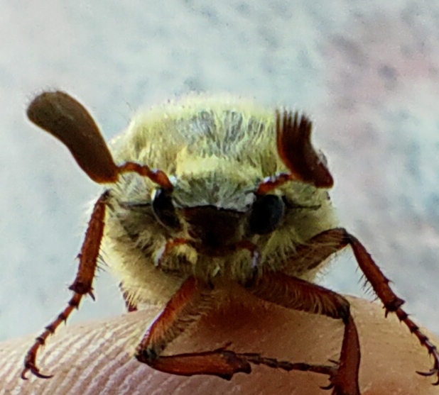
[[[280,225],[284,213],[285,204],[279,196],[256,196],[249,220],[251,233],[265,235],[273,232]]]

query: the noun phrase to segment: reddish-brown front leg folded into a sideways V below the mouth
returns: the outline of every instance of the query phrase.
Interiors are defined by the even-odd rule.
[[[292,364],[261,357],[256,353],[238,354],[224,347],[207,352],[161,356],[161,352],[173,339],[210,310],[211,301],[215,299],[213,292],[207,286],[197,283],[193,277],[186,280],[141,340],[137,347],[137,360],[170,374],[181,376],[211,374],[223,379],[231,379],[237,372],[251,372],[250,363],[287,371],[294,369],[318,372],[330,376],[337,371],[335,367]]]

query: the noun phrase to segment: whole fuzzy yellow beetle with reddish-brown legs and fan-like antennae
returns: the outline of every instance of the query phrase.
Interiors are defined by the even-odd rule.
[[[333,179],[310,140],[312,123],[229,96],[192,94],[140,112],[108,148],[90,113],[63,91],[45,91],[28,118],[58,138],[94,182],[104,184],[85,233],[73,296],[36,338],[21,374],[42,374],[36,355],[49,335],[94,299],[102,250],[119,279],[128,311],[163,310],[146,330],[136,359],[153,369],[231,379],[251,364],[327,374],[332,394],[359,395],[359,337],[345,297],[315,284],[328,258],[349,246],[387,313],[439,353],[403,311],[403,299],[354,235],[337,224],[328,190]],[[227,348],[163,356],[166,346],[239,286],[259,299],[321,314],[345,326],[335,365],[278,361]]]

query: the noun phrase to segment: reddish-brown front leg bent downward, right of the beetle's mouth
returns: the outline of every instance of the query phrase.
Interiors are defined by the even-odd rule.
[[[244,284],[247,291],[264,301],[308,313],[339,318],[345,323],[340,364],[330,374],[334,395],[359,395],[359,339],[349,313],[349,302],[341,295],[281,272],[265,272]]]

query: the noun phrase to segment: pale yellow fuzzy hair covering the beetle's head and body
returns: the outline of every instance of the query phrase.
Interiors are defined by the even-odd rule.
[[[138,113],[126,132],[110,145],[114,160],[138,162],[161,169],[175,179],[176,207],[217,206],[244,211],[258,185],[276,172],[288,172],[276,150],[275,110],[231,96],[191,95]],[[126,174],[109,186],[102,249],[134,304],[164,304],[188,275],[205,281],[242,281],[251,273],[251,256],[239,250],[225,257],[205,257],[180,245],[155,258],[173,235],[148,209],[124,204],[151,204],[157,188],[138,174]],[[269,235],[254,235],[259,266],[313,279],[306,262],[288,265],[296,247],[323,230],[335,227],[335,215],[325,189],[288,182],[273,194],[293,206]],[[306,208],[309,207],[309,208]]]

